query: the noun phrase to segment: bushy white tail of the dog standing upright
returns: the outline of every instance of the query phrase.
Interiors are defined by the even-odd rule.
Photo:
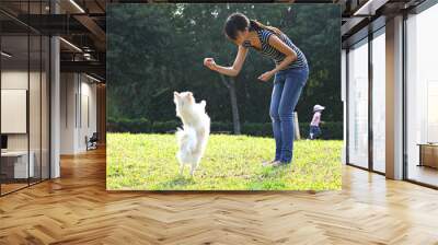
[[[192,127],[177,128],[176,139],[178,142],[180,151],[177,159],[182,163],[189,162],[193,151],[196,149],[197,138],[196,131]]]

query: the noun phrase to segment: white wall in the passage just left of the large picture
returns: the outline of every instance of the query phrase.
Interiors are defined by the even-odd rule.
[[[96,85],[83,74],[61,73],[60,93],[60,153],[84,152],[85,137],[96,131]]]

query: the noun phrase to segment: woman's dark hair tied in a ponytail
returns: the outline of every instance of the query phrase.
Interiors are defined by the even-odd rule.
[[[281,32],[273,26],[266,26],[255,20],[250,20],[243,13],[232,13],[228,16],[226,24],[223,26],[224,34],[230,38],[235,40],[238,37],[238,31],[243,32],[247,28],[249,31],[258,31],[262,28],[269,30],[275,34],[280,34]]]

